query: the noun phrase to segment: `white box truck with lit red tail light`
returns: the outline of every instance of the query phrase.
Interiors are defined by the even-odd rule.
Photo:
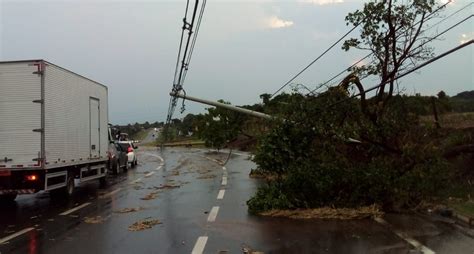
[[[105,183],[107,87],[44,60],[0,62],[0,199]]]

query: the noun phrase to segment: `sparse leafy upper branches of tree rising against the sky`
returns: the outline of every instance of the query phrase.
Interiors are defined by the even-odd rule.
[[[371,0],[362,10],[349,13],[347,24],[360,25],[360,36],[346,40],[342,49],[356,48],[373,53],[370,64],[354,70],[363,75],[380,75],[385,81],[417,61],[431,57],[432,49],[424,43],[428,35],[422,31],[427,21],[436,17],[429,14],[437,7],[435,0],[409,3]]]

